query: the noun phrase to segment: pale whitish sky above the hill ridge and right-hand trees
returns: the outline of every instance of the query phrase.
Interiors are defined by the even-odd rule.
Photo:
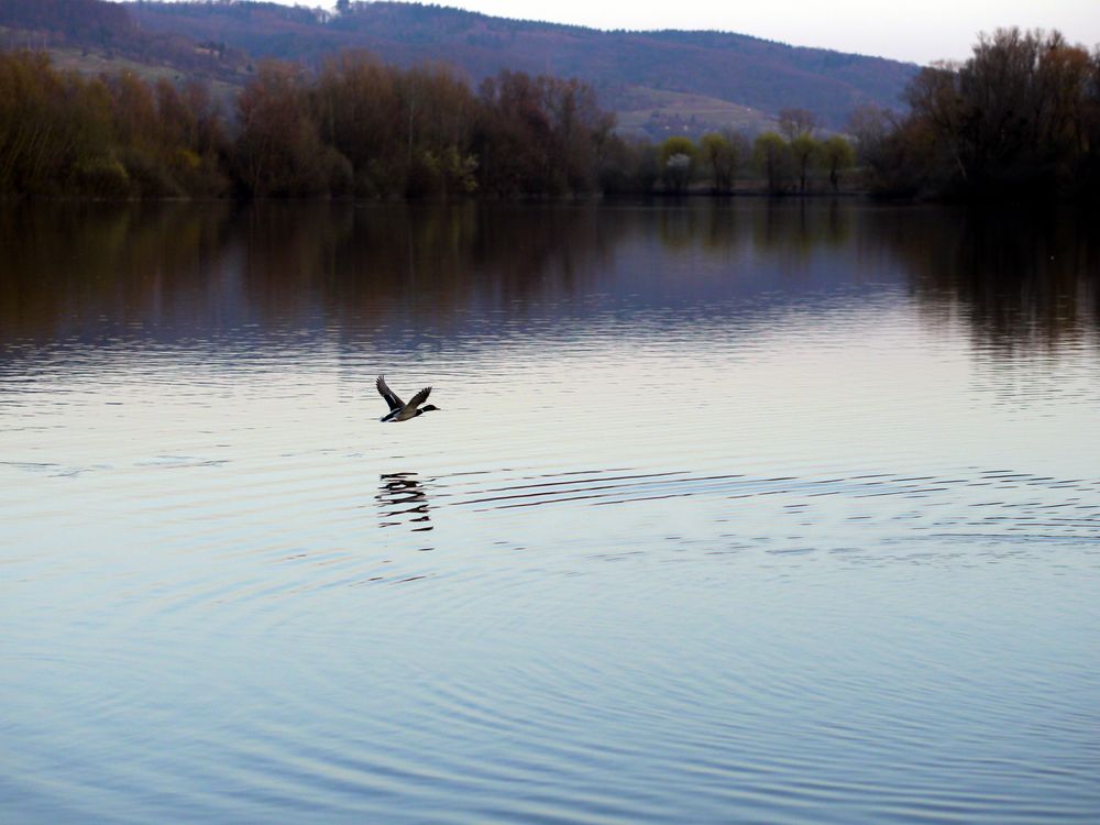
[[[331,9],[334,0],[278,0]],[[486,14],[597,29],[719,29],[928,63],[963,58],[980,31],[1058,29],[1100,44],[1100,0],[436,0]]]

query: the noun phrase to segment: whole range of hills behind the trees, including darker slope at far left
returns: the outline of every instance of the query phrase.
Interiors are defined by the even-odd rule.
[[[74,23],[85,18],[96,24]],[[250,61],[318,65],[345,48],[402,66],[441,61],[473,82],[503,68],[578,77],[622,123],[653,138],[723,125],[760,129],[784,108],[807,109],[839,128],[859,105],[899,108],[919,69],[728,32],[601,31],[408,2],[351,3],[332,13],[226,0],[0,0],[0,26],[52,30],[69,45],[162,59],[230,82],[246,79]]]

